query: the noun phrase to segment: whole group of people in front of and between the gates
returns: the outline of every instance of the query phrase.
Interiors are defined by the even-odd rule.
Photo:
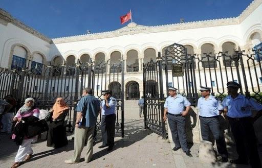
[[[203,140],[210,141],[210,133],[215,139],[218,153],[222,162],[228,161],[228,151],[222,125],[219,117],[223,116],[230,124],[238,158],[230,160],[233,164],[250,164],[252,168],[261,167],[256,135],[253,128],[251,110],[257,110],[261,114],[262,105],[238,93],[241,85],[236,82],[228,82],[228,95],[221,102],[211,95],[211,88],[201,86],[201,97],[198,100],[198,110]],[[181,94],[177,94],[174,87],[168,88],[169,97],[164,103],[163,120],[168,121],[174,142],[174,151],[182,150],[189,157],[193,155],[187,145],[185,131],[185,116],[188,115],[191,103]],[[97,117],[101,113],[102,145],[98,148],[108,147],[107,151],[114,148],[115,123],[116,123],[116,99],[112,97],[111,90],[102,91],[103,99],[100,102],[93,95],[91,88],[84,88],[83,95],[76,106],[74,154],[65,163],[72,164],[80,161],[81,152],[86,144],[84,160],[90,162],[93,156],[93,141],[96,136]],[[139,115],[144,114],[144,99],[139,100]],[[12,139],[19,145],[12,168],[18,167],[24,161],[32,157],[31,143],[37,135],[48,130],[47,146],[61,148],[68,145],[65,118],[69,114],[69,106],[63,98],[57,98],[53,108],[45,119],[39,119],[39,109],[33,98],[27,98],[15,116],[17,102],[12,95],[7,95],[5,100],[0,100],[0,114],[2,117],[2,133],[12,133]],[[144,114],[145,115],[145,114]],[[46,126],[46,122],[49,123]],[[14,129],[12,131],[12,124]],[[38,124],[36,124],[38,123]]]

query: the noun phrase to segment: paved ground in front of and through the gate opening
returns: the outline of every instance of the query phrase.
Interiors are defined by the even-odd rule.
[[[143,119],[139,118],[136,102],[125,104],[125,118],[125,137],[121,138],[120,133],[116,134],[115,148],[112,152],[107,152],[106,148],[99,149],[101,141],[96,141],[93,160],[90,163],[83,161],[83,154],[80,163],[64,163],[64,160],[70,159],[73,155],[73,140],[69,141],[67,147],[56,150],[46,147],[46,141],[42,141],[32,145],[33,158],[20,167],[248,167],[221,162],[209,165],[201,163],[198,158],[198,144],[191,145],[193,157],[187,157],[181,150],[172,151],[172,143],[168,143],[167,140],[149,130],[144,130]],[[18,147],[9,136],[0,135],[0,138],[0,167],[10,167]],[[71,138],[72,136],[69,136],[69,139]],[[232,147],[228,146],[231,158],[235,157]]]

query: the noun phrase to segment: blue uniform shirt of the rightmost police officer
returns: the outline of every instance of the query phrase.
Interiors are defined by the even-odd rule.
[[[246,99],[242,94],[237,95],[235,99],[228,95],[222,102],[224,108],[227,108],[227,116],[231,118],[241,118],[251,116],[251,109],[261,110],[262,105],[253,99]]]

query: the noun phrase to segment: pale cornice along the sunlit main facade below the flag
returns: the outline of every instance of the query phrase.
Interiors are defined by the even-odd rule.
[[[174,23],[170,25],[160,25],[160,26],[142,26],[142,25],[137,25],[135,22],[130,22],[126,27],[123,27],[115,31],[84,34],[84,35],[69,36],[69,37],[60,37],[60,38],[54,38],[52,40],[55,44],[59,44],[59,43],[66,43],[66,42],[101,39],[101,38],[112,38],[112,37],[133,35],[139,33],[158,33],[158,32],[178,31],[178,30],[187,30],[187,29],[238,25],[245,18],[247,18],[250,15],[250,13],[252,13],[261,3],[262,0],[254,0],[238,17],[192,21],[192,22],[185,22],[185,23]]]

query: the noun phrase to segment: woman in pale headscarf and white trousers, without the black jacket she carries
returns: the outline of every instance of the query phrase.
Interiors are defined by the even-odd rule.
[[[39,109],[35,108],[34,104],[35,100],[33,98],[27,98],[25,104],[18,110],[18,112],[14,116],[13,121],[18,123],[21,121],[22,117],[29,116],[35,116],[38,118]],[[15,135],[13,134],[12,139],[14,139],[14,137]],[[32,157],[33,150],[31,148],[31,143],[35,140],[35,138],[37,138],[37,136],[32,138],[28,138],[26,136],[24,137],[15,156],[15,162],[11,168],[18,167],[21,162],[27,161]]]

